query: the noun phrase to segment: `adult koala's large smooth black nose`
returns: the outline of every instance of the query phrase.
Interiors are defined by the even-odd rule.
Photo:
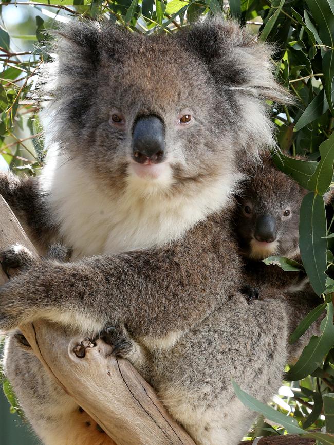
[[[132,135],[132,157],[140,164],[162,162],[165,156],[163,122],[157,116],[137,119]]]

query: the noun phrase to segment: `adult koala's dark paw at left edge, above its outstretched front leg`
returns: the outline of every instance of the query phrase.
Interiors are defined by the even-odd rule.
[[[32,267],[35,261],[30,250],[21,244],[16,244],[0,252],[1,266],[8,277],[11,276],[10,269],[21,272]]]

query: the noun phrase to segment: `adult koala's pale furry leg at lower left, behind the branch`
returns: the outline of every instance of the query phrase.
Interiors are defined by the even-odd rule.
[[[115,445],[14,333],[6,339],[4,369],[26,418],[45,445]]]

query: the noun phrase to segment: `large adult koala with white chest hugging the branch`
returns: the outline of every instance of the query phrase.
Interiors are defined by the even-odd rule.
[[[2,174],[0,192],[41,250],[60,240],[72,262],[4,252],[24,267],[0,289],[0,327],[42,317],[94,336],[125,324],[174,418],[200,445],[234,445],[253,414],[231,379],[267,401],[286,361],[287,303],[236,291],[228,228],[237,158],[273,143],[265,100],[286,99],[269,50],[220,18],[150,38],[74,22],[57,48],[42,78],[42,175]],[[6,373],[44,443],[98,443],[24,348],[9,337]]]

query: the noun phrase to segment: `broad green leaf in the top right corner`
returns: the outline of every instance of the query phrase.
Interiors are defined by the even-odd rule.
[[[323,44],[333,47],[334,15],[327,0],[306,0],[306,3],[319,25],[319,36]]]

